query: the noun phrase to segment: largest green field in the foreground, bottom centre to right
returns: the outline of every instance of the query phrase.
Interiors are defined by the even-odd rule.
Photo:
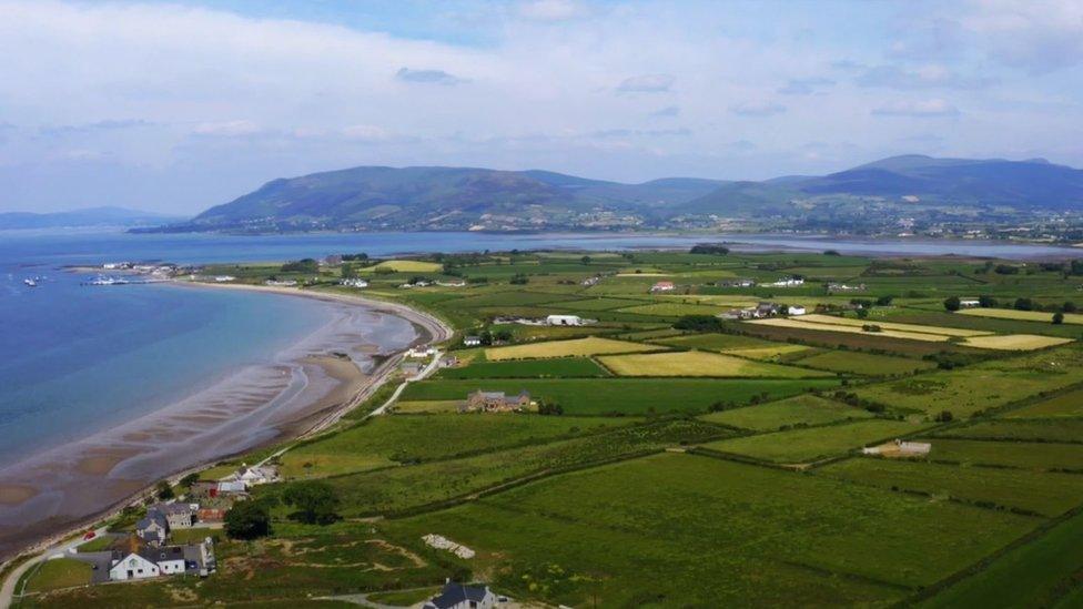
[[[597,597],[604,607],[717,607],[901,600],[1032,520],[667,454],[393,526],[404,536],[438,531],[478,550],[483,568],[492,565],[495,583],[513,596],[554,605],[586,606]]]

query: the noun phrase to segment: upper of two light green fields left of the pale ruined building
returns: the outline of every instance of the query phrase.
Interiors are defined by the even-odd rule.
[[[872,414],[867,410],[831,399],[814,395],[799,395],[779,402],[711,413],[700,418],[757,432],[777,432],[782,427],[794,425],[824,425],[871,416]]]

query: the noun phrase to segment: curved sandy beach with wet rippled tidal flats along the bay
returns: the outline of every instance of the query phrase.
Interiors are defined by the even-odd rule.
[[[432,315],[363,296],[254,285],[169,285],[311,298],[332,303],[343,314],[286,349],[291,365],[242,369],[206,388],[221,408],[208,408],[206,396],[200,392],[195,394],[200,399],[191,404],[186,403],[193,396],[131,425],[4,467],[0,470],[0,514],[7,512],[0,521],[0,558],[4,561],[45,549],[141,500],[160,479],[175,479],[239,454],[326,429],[389,378],[407,347],[451,336],[451,328]],[[386,325],[388,319],[397,321],[394,324],[399,337],[402,323],[408,324],[412,338],[398,339],[391,348],[364,344],[366,336],[358,327],[366,322]],[[348,342],[353,343],[343,348]],[[364,366],[358,366],[355,357],[342,357],[342,351],[358,353]],[[190,449],[200,441],[208,445],[186,460],[171,466],[163,459],[162,446]],[[52,487],[36,483],[54,478],[60,483]],[[78,504],[80,499],[92,507],[69,512],[55,509],[58,504]]]

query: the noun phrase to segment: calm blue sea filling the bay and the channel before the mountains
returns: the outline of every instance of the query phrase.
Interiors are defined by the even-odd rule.
[[[979,242],[793,236],[378,233],[274,236],[0,233],[0,466],[162,407],[328,321],[320,303],[175,286],[87,287],[64,265],[279,261],[331,253],[538,247],[620,250],[740,241],[749,250],[1067,257],[1081,251]],[[44,276],[29,288],[23,280]]]

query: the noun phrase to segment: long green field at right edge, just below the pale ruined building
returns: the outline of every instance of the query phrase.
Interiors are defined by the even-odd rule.
[[[1060,516],[1083,501],[1083,476],[1076,474],[854,458],[827,465],[817,475],[1046,517]]]

